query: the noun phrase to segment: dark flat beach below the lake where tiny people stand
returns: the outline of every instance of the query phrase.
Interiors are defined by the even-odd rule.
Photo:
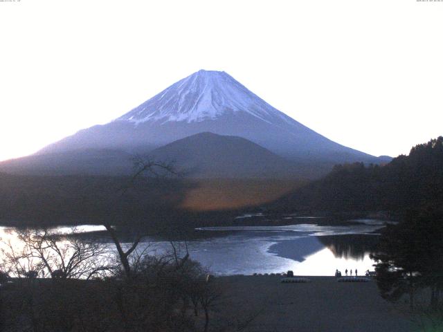
[[[282,284],[280,276],[217,277],[224,290],[215,311],[241,322],[242,331],[414,331],[406,308],[380,297],[375,281],[337,282],[308,277],[307,284]],[[217,322],[214,322],[217,324]]]

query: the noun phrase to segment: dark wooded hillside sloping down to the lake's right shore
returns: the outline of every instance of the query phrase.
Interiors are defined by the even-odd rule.
[[[337,165],[325,178],[296,190],[272,205],[273,210],[329,212],[441,208],[443,137],[417,145],[408,156],[384,166]]]

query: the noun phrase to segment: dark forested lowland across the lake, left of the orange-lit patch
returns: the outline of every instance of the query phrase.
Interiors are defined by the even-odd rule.
[[[145,229],[150,234],[185,236],[183,229],[192,231],[196,227],[232,223],[242,213],[239,208],[209,211],[187,208],[186,199],[196,188],[202,190],[201,184],[177,177],[134,180],[130,176],[0,173],[0,225],[110,223],[129,232]]]

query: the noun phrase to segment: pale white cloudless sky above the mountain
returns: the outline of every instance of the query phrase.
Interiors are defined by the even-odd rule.
[[[338,143],[443,134],[443,1],[0,1],[0,160],[226,71]]]

